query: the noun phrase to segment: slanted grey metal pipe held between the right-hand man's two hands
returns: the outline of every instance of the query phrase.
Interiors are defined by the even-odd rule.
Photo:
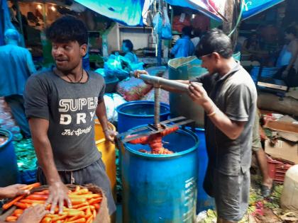
[[[140,79],[143,81],[147,81],[150,84],[153,84],[154,86],[170,86],[173,88],[176,88],[177,90],[187,92],[188,91],[188,84],[182,84],[177,81],[172,81],[168,79],[164,79],[159,76],[150,76],[146,74],[140,74]]]

